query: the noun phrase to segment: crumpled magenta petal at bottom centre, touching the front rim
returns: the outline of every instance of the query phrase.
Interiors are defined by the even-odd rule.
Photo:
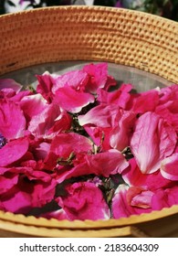
[[[69,184],[65,190],[67,195],[58,197],[56,201],[69,220],[110,218],[110,209],[99,187],[89,182],[79,182]]]

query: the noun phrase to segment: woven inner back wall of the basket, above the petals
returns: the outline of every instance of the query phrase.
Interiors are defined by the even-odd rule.
[[[99,6],[42,8],[0,16],[0,74],[59,60],[104,60],[178,83],[178,25]]]

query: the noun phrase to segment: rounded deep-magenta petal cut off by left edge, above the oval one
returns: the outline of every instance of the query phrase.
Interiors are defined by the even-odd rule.
[[[6,139],[16,139],[24,135],[26,119],[24,113],[13,101],[0,101],[0,133]]]

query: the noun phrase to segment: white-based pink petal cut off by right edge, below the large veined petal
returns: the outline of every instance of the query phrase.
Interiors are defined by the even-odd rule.
[[[161,174],[170,180],[178,180],[178,153],[175,153],[162,161]]]

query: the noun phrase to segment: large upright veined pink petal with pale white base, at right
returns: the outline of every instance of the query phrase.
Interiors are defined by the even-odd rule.
[[[131,152],[141,172],[156,172],[162,160],[173,153],[177,135],[173,128],[154,112],[146,112],[138,119],[131,138]]]

